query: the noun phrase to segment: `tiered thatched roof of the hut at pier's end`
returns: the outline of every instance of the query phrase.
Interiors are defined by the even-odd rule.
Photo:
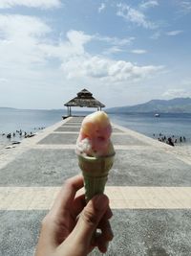
[[[77,97],[65,104],[66,106],[105,107],[86,89],[77,93]]]

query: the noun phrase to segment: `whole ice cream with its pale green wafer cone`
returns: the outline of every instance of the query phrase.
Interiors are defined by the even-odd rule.
[[[112,126],[104,111],[86,116],[76,141],[78,164],[84,176],[86,200],[104,192],[115,150],[111,141]]]

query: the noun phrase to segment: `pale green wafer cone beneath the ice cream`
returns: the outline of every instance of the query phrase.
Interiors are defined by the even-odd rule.
[[[106,156],[84,156],[77,154],[78,165],[84,177],[85,198],[88,202],[97,194],[103,194],[108,174],[114,163],[115,152]]]

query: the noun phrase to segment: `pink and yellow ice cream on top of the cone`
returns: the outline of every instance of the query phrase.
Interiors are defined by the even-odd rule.
[[[113,154],[111,142],[112,126],[104,111],[86,116],[81,124],[76,142],[76,153],[84,156],[106,156]]]

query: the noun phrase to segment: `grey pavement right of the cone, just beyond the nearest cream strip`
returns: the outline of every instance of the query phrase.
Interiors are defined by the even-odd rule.
[[[191,167],[175,155],[155,149],[120,151],[109,174],[119,186],[191,186]]]

